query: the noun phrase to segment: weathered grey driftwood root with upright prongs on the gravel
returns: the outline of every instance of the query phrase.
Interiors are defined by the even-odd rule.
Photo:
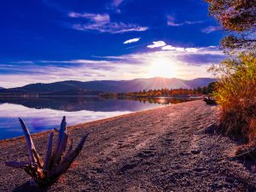
[[[61,121],[61,128],[60,130],[57,130],[58,137],[55,143],[55,148],[53,150],[54,132],[50,132],[47,151],[44,160],[42,160],[22,119],[20,119],[20,124],[26,137],[29,161],[8,161],[5,163],[5,165],[24,169],[25,172],[32,177],[31,183],[38,186],[55,183],[63,173],[67,172],[67,169],[69,166],[71,166],[73,160],[75,160],[75,158],[79,155],[83,148],[84,142],[88,137],[88,133],[85,134],[77,148],[73,149],[73,140],[67,134],[66,118],[63,117]],[[67,143],[69,143],[69,148],[66,151]]]

